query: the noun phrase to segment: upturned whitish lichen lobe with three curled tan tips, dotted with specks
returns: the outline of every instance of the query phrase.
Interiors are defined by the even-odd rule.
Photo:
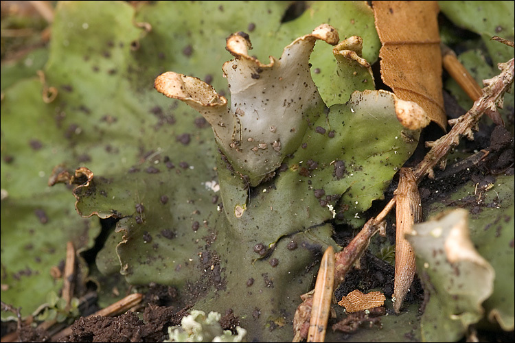
[[[309,58],[316,40],[339,41],[334,27],[322,24],[312,34],[288,45],[282,58],[263,64],[249,56],[249,36],[242,32],[227,38],[235,57],[222,69],[229,82],[231,104],[198,78],[167,72],[155,88],[198,110],[211,124],[216,142],[234,169],[258,185],[284,157],[297,150],[308,128],[325,108],[311,78]]]

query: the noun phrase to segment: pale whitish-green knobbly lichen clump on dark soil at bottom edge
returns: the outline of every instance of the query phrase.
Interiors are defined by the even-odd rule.
[[[247,330],[236,327],[237,335],[230,330],[223,330],[218,320],[222,316],[218,312],[205,312],[196,309],[181,320],[181,327],[169,327],[169,340],[163,342],[242,342]]]

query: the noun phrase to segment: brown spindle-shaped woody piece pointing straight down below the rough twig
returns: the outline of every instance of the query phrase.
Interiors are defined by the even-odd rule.
[[[393,309],[400,312],[402,301],[409,291],[415,276],[415,253],[404,238],[404,234],[411,233],[413,224],[422,220],[422,207],[417,180],[410,168],[400,169],[399,185],[396,190],[396,269],[393,297]]]

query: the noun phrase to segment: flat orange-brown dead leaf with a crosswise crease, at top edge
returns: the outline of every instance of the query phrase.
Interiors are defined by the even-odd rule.
[[[374,1],[381,78],[446,129],[436,1]]]

